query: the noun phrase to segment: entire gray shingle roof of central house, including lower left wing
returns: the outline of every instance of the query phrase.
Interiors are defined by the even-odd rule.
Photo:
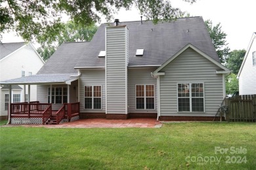
[[[202,17],[180,18],[172,22],[120,22],[129,29],[129,66],[161,65],[186,44],[192,44],[219,61]],[[38,74],[77,73],[74,67],[104,67],[105,58],[98,53],[105,50],[105,28],[101,24],[91,42],[64,43],[51,56]],[[142,57],[135,57],[138,48]]]

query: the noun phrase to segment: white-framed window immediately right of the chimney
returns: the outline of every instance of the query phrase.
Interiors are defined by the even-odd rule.
[[[136,109],[155,109],[154,84],[136,85]]]

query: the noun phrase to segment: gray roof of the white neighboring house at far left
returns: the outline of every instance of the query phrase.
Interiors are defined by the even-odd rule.
[[[24,46],[26,42],[11,42],[11,43],[0,43],[0,59],[5,58],[5,56],[11,54],[18,48]]]

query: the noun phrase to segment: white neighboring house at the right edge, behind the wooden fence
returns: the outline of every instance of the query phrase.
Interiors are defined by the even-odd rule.
[[[238,72],[239,94],[256,94],[256,32],[253,33]]]

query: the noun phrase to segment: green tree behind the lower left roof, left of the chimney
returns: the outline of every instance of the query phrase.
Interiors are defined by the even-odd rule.
[[[64,24],[64,29],[59,33],[56,33],[54,37],[39,38],[41,47],[37,49],[37,52],[45,61],[47,61],[63,42],[91,41],[97,29],[98,27],[96,27],[95,24],[81,27],[73,21],[69,21]]]

